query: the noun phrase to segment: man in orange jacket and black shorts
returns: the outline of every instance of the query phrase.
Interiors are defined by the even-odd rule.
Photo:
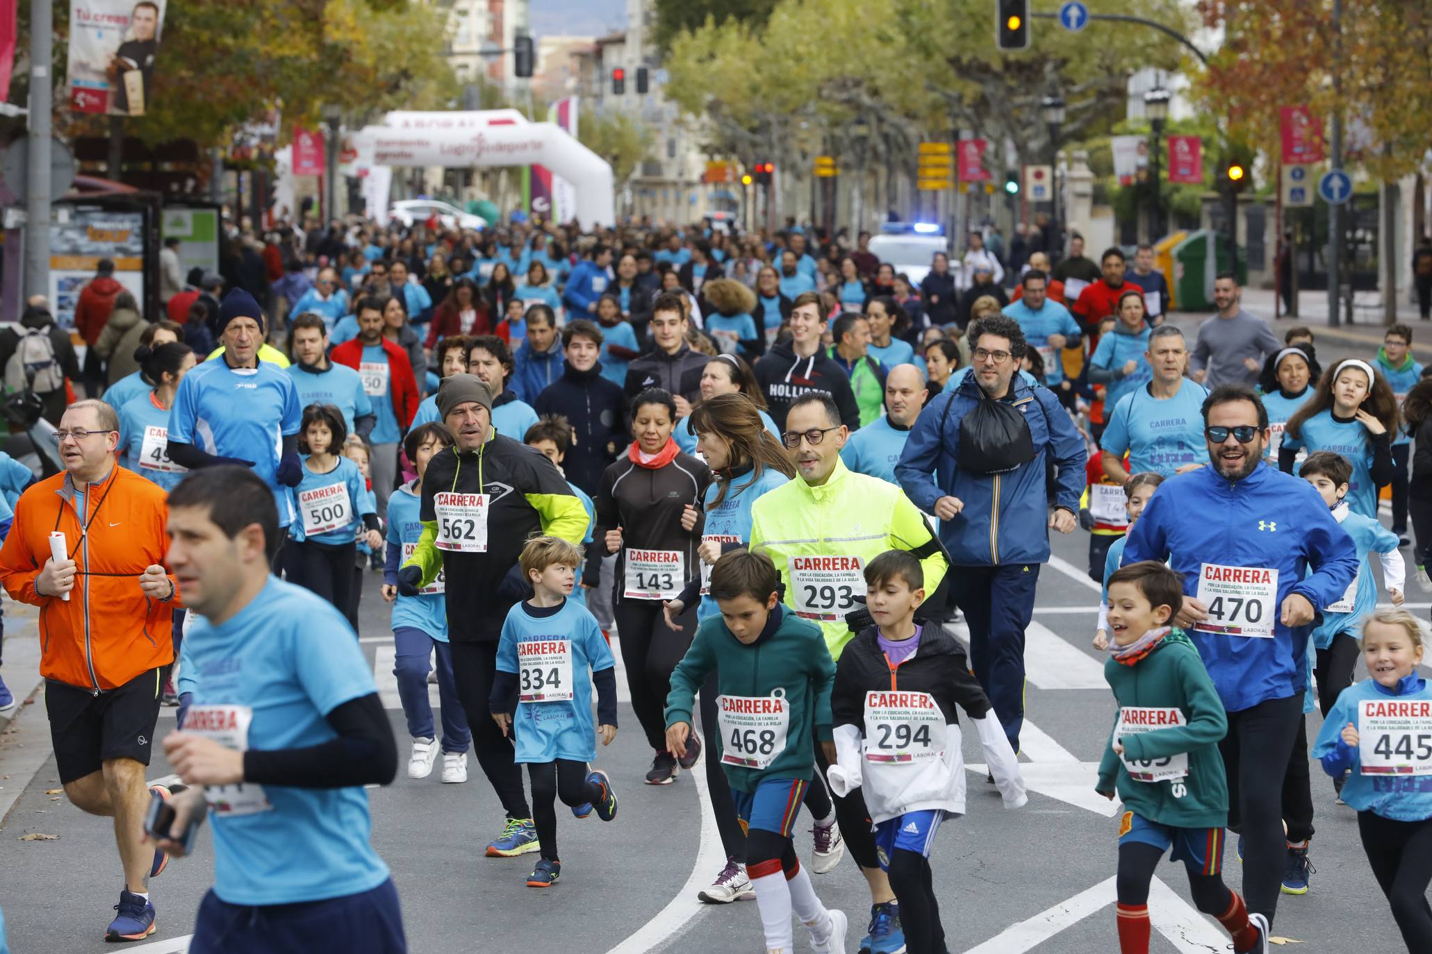
[[[115,820],[125,887],[105,940],[137,941],[155,933],[149,878],[168,860],[145,845],[143,831],[178,596],[163,568],[165,492],[115,466],[119,419],[107,403],[70,405],[54,436],[64,471],[16,502],[0,582],[40,608],[40,675],[64,794]],[[53,556],[52,532],[64,535],[69,556]]]

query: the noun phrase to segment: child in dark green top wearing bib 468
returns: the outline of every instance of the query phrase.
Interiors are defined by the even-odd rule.
[[[710,596],[719,615],[696,626],[666,697],[666,745],[680,758],[692,734],[696,689],[716,674],[720,689],[717,751],[746,828],[746,874],[766,935],[766,954],[792,954],[792,911],[811,928],[818,954],[845,951],[843,911],[821,904],[796,857],[800,802],[815,774],[815,734],[831,742],[835,662],[825,635],[780,602],[780,576],[765,554],[733,549],[712,566]]]

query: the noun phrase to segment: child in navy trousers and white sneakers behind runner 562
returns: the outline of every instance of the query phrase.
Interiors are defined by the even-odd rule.
[[[401,566],[422,536],[418,509],[422,502],[422,475],[428,461],[453,446],[453,435],[437,422],[420,423],[402,441],[402,451],[412,461],[418,476],[388,498],[387,561],[382,571],[382,598],[392,604],[392,675],[398,681],[398,699],[412,737],[408,778],[432,774],[438,745],[432,731],[432,704],[428,702],[428,659],[437,657],[438,699],[442,711],[442,781],[467,781],[467,748],[473,735],[453,678],[453,648],[447,636],[447,588],[442,574],[418,591],[417,596],[398,594]]]

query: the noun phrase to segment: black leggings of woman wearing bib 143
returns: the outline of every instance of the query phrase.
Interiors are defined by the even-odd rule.
[[[672,691],[672,669],[692,645],[696,608],[689,606],[677,616],[680,632],[666,625],[660,599],[619,599],[616,618],[632,708],[646,732],[647,745],[664,752],[666,695]]]

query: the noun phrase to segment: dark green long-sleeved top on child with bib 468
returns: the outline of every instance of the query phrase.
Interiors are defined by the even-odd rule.
[[[779,618],[778,618],[779,614]],[[799,778],[815,774],[815,749],[811,734],[822,741],[832,738],[831,688],[835,685],[835,661],[825,648],[825,635],[813,622],[796,616],[778,604],[760,638],[746,645],[730,634],[720,615],[707,616],[696,626],[692,648],[672,672],[672,691],[666,697],[666,725],[692,725],[696,691],[716,671],[716,687],[723,697],[770,697],[780,689],[789,707],[786,747],[762,769],[723,764],[732,788],[753,792],[766,778]],[[717,701],[717,711],[720,701]],[[720,758],[725,738],[707,758]]]

